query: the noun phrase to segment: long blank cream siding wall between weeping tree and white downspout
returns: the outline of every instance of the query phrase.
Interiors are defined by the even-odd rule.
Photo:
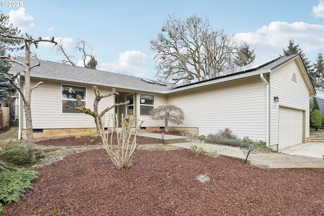
[[[241,138],[266,139],[266,86],[260,77],[170,94],[168,103],[183,109],[180,126],[198,127],[200,135],[228,127]]]

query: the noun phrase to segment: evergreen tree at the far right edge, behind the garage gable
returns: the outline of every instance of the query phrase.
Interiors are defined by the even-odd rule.
[[[313,64],[310,77],[315,88],[324,88],[324,58],[323,54],[319,52],[316,57],[316,63]]]

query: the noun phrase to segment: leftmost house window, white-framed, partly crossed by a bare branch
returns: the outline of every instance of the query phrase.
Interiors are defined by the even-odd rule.
[[[79,96],[85,106],[87,106],[86,87],[62,85],[62,113],[77,113],[75,110],[65,107],[81,107],[76,101],[76,96]]]

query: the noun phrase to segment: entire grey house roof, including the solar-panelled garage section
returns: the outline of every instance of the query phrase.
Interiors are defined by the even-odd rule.
[[[234,69],[221,71],[217,74],[197,78],[191,81],[187,81],[181,84],[168,84],[159,81],[153,81],[148,79],[142,79],[133,76],[115,74],[102,70],[88,69],[84,67],[66,65],[51,61],[42,61],[37,59],[31,59],[31,65],[41,63],[40,66],[34,67],[31,70],[32,78],[56,80],[62,82],[73,82],[81,84],[90,84],[98,86],[106,86],[112,88],[122,88],[130,90],[148,91],[154,93],[172,93],[178,91],[184,91],[187,89],[198,88],[202,86],[213,85],[217,83],[223,83],[233,81],[242,78],[248,78],[257,76],[260,74],[268,74],[271,70],[285,64],[286,62],[293,61],[299,58],[301,62],[302,75],[306,80],[306,85],[310,89],[310,94],[315,94],[309,77],[306,73],[305,66],[302,63],[299,54],[279,57],[273,60],[262,61],[258,63],[249,64],[246,66],[237,67]],[[17,60],[24,61],[24,57],[17,57]],[[13,64],[10,69],[10,74],[15,74],[17,71],[22,70],[22,67],[18,64]],[[23,76],[23,73],[21,73]]]

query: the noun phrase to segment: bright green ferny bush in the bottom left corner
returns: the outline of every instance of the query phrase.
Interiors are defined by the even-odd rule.
[[[20,202],[27,188],[32,189],[31,181],[37,178],[37,172],[26,168],[17,171],[0,172],[0,212],[7,202]]]

